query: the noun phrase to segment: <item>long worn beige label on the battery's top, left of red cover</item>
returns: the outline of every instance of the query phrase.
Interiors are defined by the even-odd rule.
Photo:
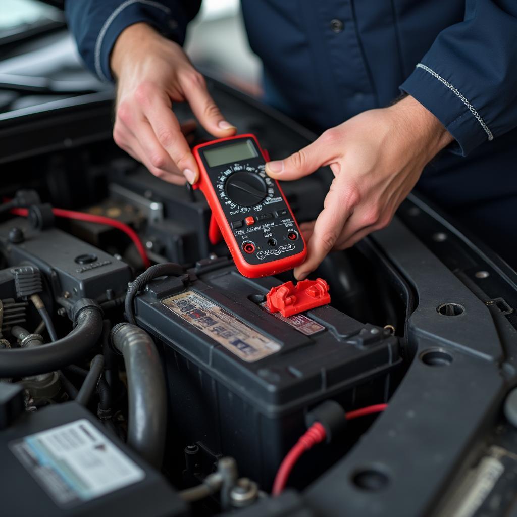
[[[164,298],[161,302],[243,361],[258,361],[275,354],[281,348],[277,341],[257,332],[233,314],[193,291]]]

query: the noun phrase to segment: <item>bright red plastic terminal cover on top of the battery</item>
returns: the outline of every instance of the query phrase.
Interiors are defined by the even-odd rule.
[[[285,282],[272,287],[266,295],[270,312],[278,312],[284,317],[308,311],[330,303],[329,286],[323,278],[300,280],[296,285]]]

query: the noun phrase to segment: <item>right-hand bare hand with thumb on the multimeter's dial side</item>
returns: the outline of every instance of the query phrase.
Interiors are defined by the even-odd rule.
[[[387,226],[413,189],[424,166],[452,135],[413,97],[369,110],[328,129],[285,160],[266,165],[269,176],[298,179],[330,165],[334,179],[316,221],[300,225],[306,261],[295,268],[302,280],[331,250],[353,246]]]

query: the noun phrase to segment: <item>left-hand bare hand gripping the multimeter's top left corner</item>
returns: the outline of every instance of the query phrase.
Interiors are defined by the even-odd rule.
[[[236,128],[224,120],[208,94],[203,76],[181,47],[160,36],[151,26],[136,23],[118,37],[111,55],[117,79],[113,138],[155,176],[174,184],[195,183],[197,164],[172,103],[188,101],[201,125],[223,138]]]

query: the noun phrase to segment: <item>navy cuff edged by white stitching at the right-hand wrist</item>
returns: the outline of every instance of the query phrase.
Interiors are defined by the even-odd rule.
[[[445,126],[457,142],[450,148],[453,153],[466,156],[483,142],[493,140],[492,132],[473,105],[439,71],[418,63],[399,88]]]

